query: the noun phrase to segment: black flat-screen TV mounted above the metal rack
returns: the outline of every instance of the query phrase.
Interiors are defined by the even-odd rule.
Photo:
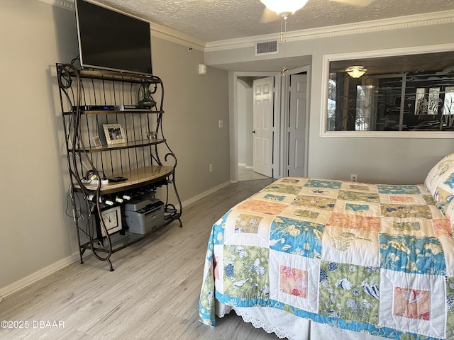
[[[153,74],[150,23],[88,1],[74,4],[82,67]]]

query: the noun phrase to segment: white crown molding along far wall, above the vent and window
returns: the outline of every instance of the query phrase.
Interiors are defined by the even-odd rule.
[[[416,14],[413,16],[399,16],[397,18],[348,23],[322,28],[309,28],[307,30],[294,30],[285,33],[287,41],[329,38],[339,35],[378,32],[382,30],[395,30],[399,28],[412,28],[417,26],[440,25],[454,22],[454,10],[433,13]],[[257,42],[279,39],[280,33],[256,35],[253,37],[219,40],[207,42],[205,52],[233,50],[243,47],[253,47]]]

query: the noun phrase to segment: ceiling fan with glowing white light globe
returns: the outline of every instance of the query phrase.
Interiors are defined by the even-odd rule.
[[[262,23],[269,23],[271,21],[283,18],[287,20],[289,16],[303,8],[308,0],[260,0],[265,5],[265,10],[262,14]],[[355,7],[366,7],[372,4],[375,0],[329,0]],[[276,16],[277,14],[277,16]]]

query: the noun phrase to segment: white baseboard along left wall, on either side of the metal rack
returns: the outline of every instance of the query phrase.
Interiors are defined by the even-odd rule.
[[[193,198],[190,198],[189,200],[185,200],[182,202],[182,206],[187,206],[191,203],[196,202],[197,200],[200,200],[201,198],[204,198],[206,196],[209,196],[211,193],[215,193],[218,190],[221,190],[222,188],[228,186],[231,182],[227,181],[225,183],[222,183],[218,186],[215,186],[214,188],[211,188],[208,191],[205,191],[204,193],[199,193],[199,195],[194,196]],[[91,254],[90,252],[87,252],[85,255]],[[39,271],[36,271],[35,273],[32,273],[29,276],[26,276],[25,278],[21,278],[21,280],[17,280],[14,283],[11,283],[11,285],[7,285],[4,288],[0,288],[0,302],[3,300],[4,297],[7,297],[8,295],[11,295],[13,293],[16,293],[18,290],[21,290],[22,288],[26,288],[26,286],[31,285],[32,283],[35,283],[36,281],[40,280],[41,278],[45,278],[45,276],[48,276],[52,273],[55,273],[55,271],[59,271],[62,268],[65,268],[66,266],[69,266],[71,263],[77,262],[80,260],[79,257],[79,252],[72,254],[71,256],[67,256],[65,259],[61,259],[60,261],[57,261],[55,263],[50,264],[49,266],[40,269]]]

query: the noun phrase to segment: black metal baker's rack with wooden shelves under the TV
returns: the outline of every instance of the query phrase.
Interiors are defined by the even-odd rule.
[[[182,203],[175,185],[177,157],[162,132],[164,86],[156,76],[81,70],[73,64],[56,67],[80,262],[89,249],[113,271],[114,252],[175,220],[182,227]],[[139,106],[144,96],[152,103]],[[105,124],[121,126],[121,142],[108,144]],[[155,132],[152,138],[151,131]],[[106,183],[106,179],[117,181]],[[131,198],[154,197],[162,190],[164,222],[143,234],[128,232],[124,205]],[[121,211],[122,227],[110,233],[103,212],[116,207],[120,207],[116,210]]]

